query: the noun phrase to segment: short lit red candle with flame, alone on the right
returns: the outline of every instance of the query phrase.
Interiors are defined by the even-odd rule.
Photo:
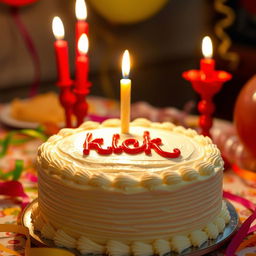
[[[204,58],[200,61],[200,70],[204,72],[206,77],[210,77],[215,71],[215,60],[212,58],[212,41],[209,36],[203,38],[202,52]]]

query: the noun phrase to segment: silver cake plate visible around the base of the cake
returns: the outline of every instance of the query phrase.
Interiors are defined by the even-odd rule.
[[[38,201],[37,199],[35,199],[24,209],[20,219],[21,224],[29,229],[31,241],[35,246],[56,247],[56,245],[52,240],[42,238],[40,236],[40,232],[35,231],[33,228],[32,219],[31,219],[32,207],[37,203]],[[226,204],[227,204],[227,208],[230,213],[231,219],[229,224],[225,227],[224,232],[222,234],[220,234],[214,240],[208,240],[207,242],[202,244],[200,247],[190,247],[184,250],[180,254],[175,252],[170,252],[170,253],[167,253],[166,256],[178,256],[178,255],[200,256],[221,248],[227,241],[229,241],[232,238],[232,236],[235,234],[239,226],[239,217],[234,206],[229,201],[226,201]],[[74,250],[74,249],[69,249],[69,250],[77,256],[82,256],[82,254],[78,250]]]

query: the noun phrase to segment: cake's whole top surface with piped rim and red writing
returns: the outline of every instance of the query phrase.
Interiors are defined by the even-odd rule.
[[[38,162],[78,184],[113,186],[120,181],[126,184],[121,187],[129,182],[147,187],[143,182],[152,180],[159,186],[195,182],[223,169],[220,152],[208,137],[146,119],[131,122],[130,134],[121,134],[118,119],[62,129],[40,147]]]

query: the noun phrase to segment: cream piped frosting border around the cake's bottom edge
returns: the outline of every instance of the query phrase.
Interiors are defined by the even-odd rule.
[[[85,236],[75,239],[62,229],[56,230],[53,225],[43,219],[37,204],[32,210],[34,229],[40,231],[44,238],[53,240],[57,246],[76,248],[82,254],[107,254],[111,256],[148,256],[154,254],[162,256],[170,251],[181,253],[191,246],[200,247],[208,239],[216,239],[224,231],[229,221],[230,214],[226,203],[223,201],[221,212],[214,221],[208,223],[203,229],[194,230],[188,235],[176,235],[168,240],[156,239],[152,243],[135,241],[131,244],[125,244],[120,241],[109,240],[106,244],[98,244]]]

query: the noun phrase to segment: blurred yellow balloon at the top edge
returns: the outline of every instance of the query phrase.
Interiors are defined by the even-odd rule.
[[[91,6],[113,23],[136,23],[153,16],[168,0],[90,0]]]

